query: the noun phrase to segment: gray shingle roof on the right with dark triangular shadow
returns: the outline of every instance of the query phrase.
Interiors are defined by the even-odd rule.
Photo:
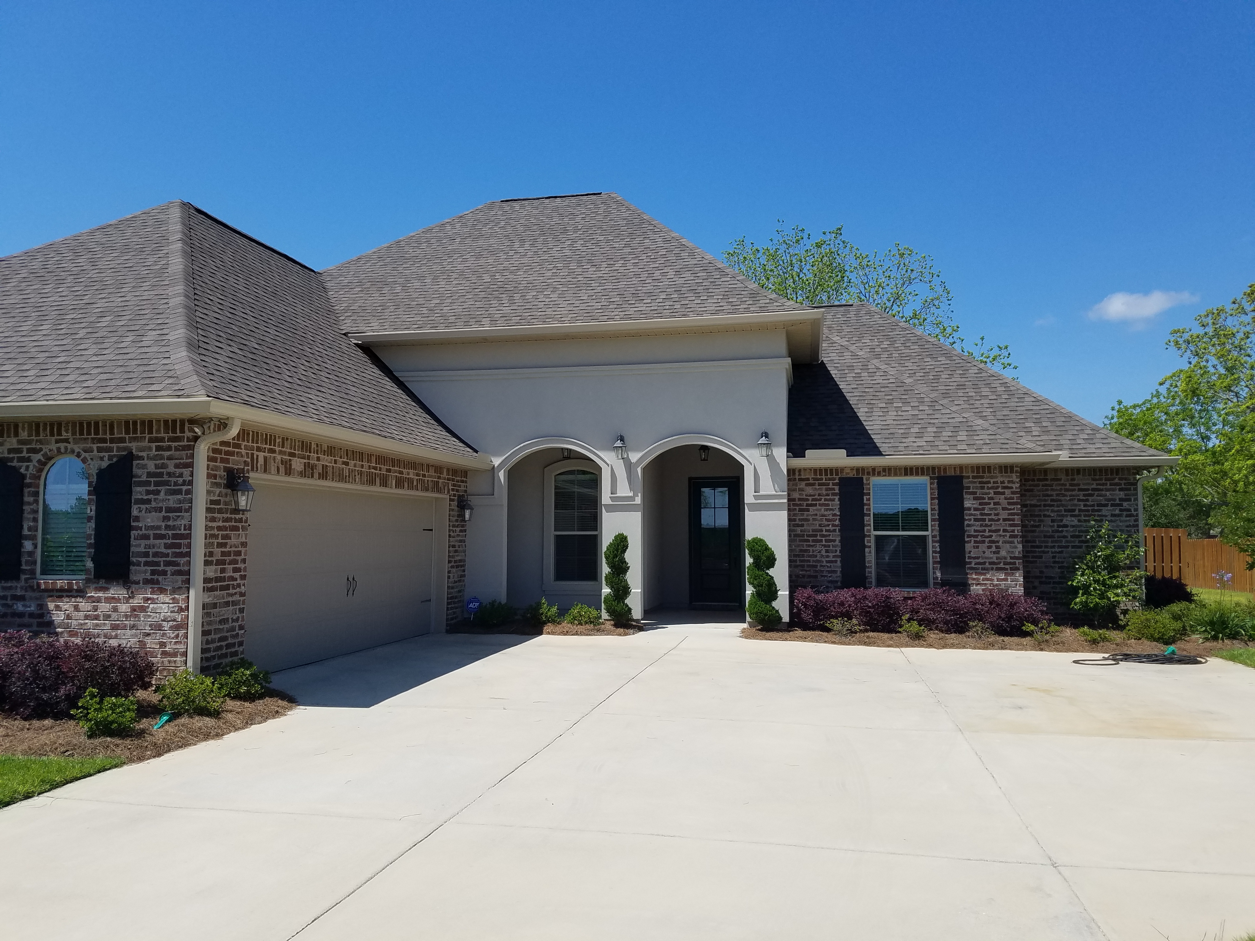
[[[788,452],[850,457],[1064,450],[1157,457],[866,304],[823,316],[823,361],[793,369]]]

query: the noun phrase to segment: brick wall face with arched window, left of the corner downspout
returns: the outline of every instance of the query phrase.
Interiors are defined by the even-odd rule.
[[[187,649],[191,556],[192,443],[174,419],[0,423],[0,460],[25,478],[23,578],[0,582],[0,630],[58,631],[69,637],[125,642],[144,650],[162,673],[179,669]],[[95,474],[134,452],[131,581],[92,577]],[[35,578],[39,498],[44,470],[73,454],[88,470],[88,566],[83,581]]]

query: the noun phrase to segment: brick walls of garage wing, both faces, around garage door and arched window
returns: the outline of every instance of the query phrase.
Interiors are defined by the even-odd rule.
[[[192,459],[196,435],[182,419],[60,419],[0,423],[0,460],[25,479],[23,577],[0,582],[0,630],[55,631],[144,650],[159,675],[187,659],[191,578]],[[131,578],[92,575],[95,473],[127,452],[136,455],[132,492]],[[88,469],[88,567],[82,581],[36,578],[40,486],[63,454]],[[425,492],[449,497],[446,622],[462,617],[466,522],[457,497],[467,472],[243,428],[208,449],[206,553],[201,622],[202,669],[240,656],[245,637],[247,517],[231,508],[222,482],[228,467],[312,481]]]

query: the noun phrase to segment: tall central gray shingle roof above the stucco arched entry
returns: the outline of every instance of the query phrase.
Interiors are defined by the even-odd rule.
[[[350,334],[802,309],[615,193],[484,203],[323,276]]]

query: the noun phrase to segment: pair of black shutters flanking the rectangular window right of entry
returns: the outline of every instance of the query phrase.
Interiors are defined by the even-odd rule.
[[[837,512],[841,519],[841,587],[867,587],[867,533],[862,477],[837,481]],[[937,555],[941,580],[937,587],[968,590],[968,548],[963,516],[963,476],[937,477]]]

